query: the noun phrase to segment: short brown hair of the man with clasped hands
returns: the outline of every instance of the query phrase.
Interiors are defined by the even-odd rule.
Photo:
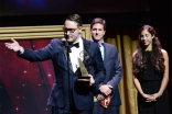
[[[104,31],[106,31],[106,21],[104,19],[101,19],[101,18],[94,19],[92,21],[92,23],[90,23],[90,29],[93,27],[94,24],[97,24],[97,23],[103,24],[104,25]]]

